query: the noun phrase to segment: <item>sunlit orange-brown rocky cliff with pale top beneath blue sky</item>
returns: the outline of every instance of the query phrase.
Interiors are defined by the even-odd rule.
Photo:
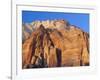
[[[22,44],[23,69],[89,65],[88,33],[64,20],[39,24]]]

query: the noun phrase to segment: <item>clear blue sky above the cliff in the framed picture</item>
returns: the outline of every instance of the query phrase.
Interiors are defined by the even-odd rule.
[[[80,27],[85,32],[89,32],[88,13],[63,13],[63,12],[43,12],[43,11],[22,11],[22,22],[31,23],[36,20],[64,19],[70,24]]]

